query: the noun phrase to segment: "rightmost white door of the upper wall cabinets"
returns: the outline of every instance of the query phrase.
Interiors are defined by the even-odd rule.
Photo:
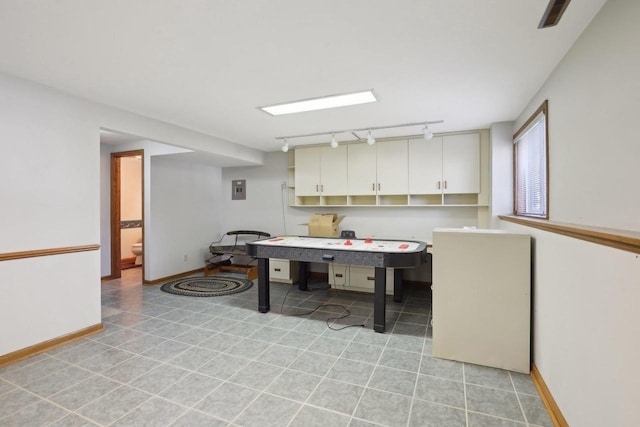
[[[479,133],[445,136],[442,159],[445,194],[480,192]]]

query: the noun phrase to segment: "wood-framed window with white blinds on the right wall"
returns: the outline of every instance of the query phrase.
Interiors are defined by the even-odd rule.
[[[547,101],[513,136],[515,214],[549,218]]]

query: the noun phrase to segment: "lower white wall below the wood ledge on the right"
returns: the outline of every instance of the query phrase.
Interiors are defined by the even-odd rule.
[[[533,361],[571,426],[640,416],[637,254],[511,223],[533,236]]]

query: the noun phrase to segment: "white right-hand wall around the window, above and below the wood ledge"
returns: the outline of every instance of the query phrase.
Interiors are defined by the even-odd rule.
[[[639,16],[608,1],[515,123],[549,100],[551,220],[640,230]],[[568,423],[637,425],[639,256],[501,228],[534,237],[533,359]]]

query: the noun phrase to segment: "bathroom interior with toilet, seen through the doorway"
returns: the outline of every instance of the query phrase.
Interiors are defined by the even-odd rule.
[[[120,158],[120,268],[142,266],[142,156]]]

